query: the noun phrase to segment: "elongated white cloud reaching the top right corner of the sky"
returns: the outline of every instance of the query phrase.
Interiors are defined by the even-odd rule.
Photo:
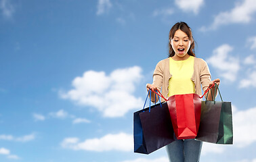
[[[202,27],[202,30],[215,30],[219,26],[226,24],[249,23],[253,20],[255,12],[255,0],[239,1],[230,11],[221,12],[217,16],[215,16],[213,24],[211,24],[209,28],[206,28],[205,26]]]

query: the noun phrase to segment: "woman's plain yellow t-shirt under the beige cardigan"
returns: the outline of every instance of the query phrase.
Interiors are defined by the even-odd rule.
[[[190,94],[195,92],[194,82],[191,80],[194,72],[194,57],[175,61],[169,57],[171,79],[169,80],[168,97],[174,94]]]

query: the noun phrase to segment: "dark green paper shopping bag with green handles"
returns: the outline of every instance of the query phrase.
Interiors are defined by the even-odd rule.
[[[215,84],[215,92],[216,90],[219,91],[217,84]],[[215,101],[215,99],[202,101],[200,127],[196,140],[215,144],[233,144],[231,102],[223,102],[220,92],[219,97],[221,101]]]

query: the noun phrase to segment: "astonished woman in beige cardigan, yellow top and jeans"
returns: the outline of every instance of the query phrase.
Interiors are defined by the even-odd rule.
[[[194,54],[192,31],[185,22],[176,23],[169,32],[169,57],[159,61],[153,74],[153,83],[147,84],[147,90],[161,91],[167,98],[174,94],[196,93],[220,80],[211,81],[207,63]],[[214,93],[214,86],[212,88]],[[154,102],[154,93],[151,101]],[[209,93],[208,100],[213,97]],[[157,97],[156,97],[156,100]],[[162,100],[164,101],[164,100]],[[194,139],[177,140],[167,145],[167,153],[171,162],[196,162],[200,159],[202,142]]]

